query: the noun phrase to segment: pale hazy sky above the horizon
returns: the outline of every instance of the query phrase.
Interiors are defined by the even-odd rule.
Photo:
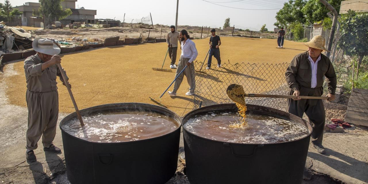
[[[211,4],[209,2],[219,4]],[[273,30],[278,10],[242,10],[282,8],[287,0],[179,0],[178,25],[222,27],[230,18],[231,26],[259,29],[263,24]],[[3,3],[4,0],[1,0]],[[10,0],[13,6],[38,0]],[[76,8],[97,10],[95,18],[141,19],[152,14],[153,24],[175,25],[176,0],[78,0]],[[223,6],[235,7],[228,8]],[[127,22],[127,21],[125,21]],[[129,21],[130,22],[130,21]]]

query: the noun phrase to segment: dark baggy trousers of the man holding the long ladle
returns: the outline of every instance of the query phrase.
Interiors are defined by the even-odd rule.
[[[289,95],[293,95],[293,89],[290,89]],[[323,88],[305,88],[299,87],[300,96],[321,96],[323,94]],[[322,100],[319,99],[301,99],[301,100],[287,100],[286,109],[289,113],[299,117],[303,117],[303,114],[307,114],[309,123],[312,124],[312,143],[316,145],[322,144],[323,139],[323,127],[325,126],[325,107]]]

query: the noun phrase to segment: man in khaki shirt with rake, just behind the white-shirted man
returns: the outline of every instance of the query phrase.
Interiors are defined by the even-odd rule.
[[[180,40],[180,33],[175,31],[175,26],[170,26],[170,32],[167,33],[166,43],[167,47],[169,47],[169,56],[171,59],[170,68],[176,68],[175,61],[176,61],[176,53],[178,50],[178,40],[181,44]]]

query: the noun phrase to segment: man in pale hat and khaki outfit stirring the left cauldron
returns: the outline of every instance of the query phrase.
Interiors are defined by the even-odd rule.
[[[32,47],[37,53],[24,61],[28,106],[26,159],[29,162],[36,161],[33,150],[37,148],[37,142],[41,136],[44,151],[61,152],[61,149],[54,146],[52,142],[59,116],[56,76],[59,76],[65,85],[56,65],[61,63],[61,58],[57,55],[60,53],[60,48],[52,40],[44,38],[33,40]]]

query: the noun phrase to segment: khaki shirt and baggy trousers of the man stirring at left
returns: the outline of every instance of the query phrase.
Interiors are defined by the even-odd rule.
[[[35,44],[37,42],[38,38],[33,41]],[[24,72],[27,82],[28,129],[26,133],[26,149],[28,150],[37,148],[37,142],[41,136],[44,147],[49,147],[52,144],[59,116],[59,95],[57,93],[56,76],[59,76],[63,83],[64,81],[56,65],[42,71],[42,64],[43,61],[38,54],[29,56],[24,61]]]

